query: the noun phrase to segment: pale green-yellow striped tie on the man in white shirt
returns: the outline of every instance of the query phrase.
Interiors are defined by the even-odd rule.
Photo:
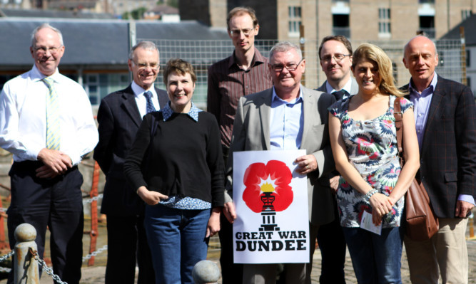
[[[43,79],[49,88],[46,96],[46,148],[59,150],[59,98],[53,79]]]

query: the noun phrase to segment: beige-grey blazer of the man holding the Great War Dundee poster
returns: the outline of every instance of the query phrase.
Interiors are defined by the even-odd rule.
[[[321,225],[333,221],[333,199],[327,173],[335,169],[330,148],[327,108],[333,95],[305,88],[303,90],[303,140],[300,149],[313,154],[318,169],[308,174],[309,221]],[[233,196],[233,152],[270,150],[270,110],[273,88],[246,95],[238,101],[230,156],[226,167],[225,202]],[[297,158],[297,157],[296,157]],[[238,212],[239,214],[239,212]]]

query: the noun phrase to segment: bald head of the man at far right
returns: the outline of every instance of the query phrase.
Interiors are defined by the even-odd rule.
[[[430,85],[438,65],[435,43],[426,36],[415,36],[405,45],[403,64],[412,75],[417,90],[425,90]]]

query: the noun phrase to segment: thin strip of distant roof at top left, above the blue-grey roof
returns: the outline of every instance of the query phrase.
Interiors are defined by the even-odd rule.
[[[56,11],[41,9],[0,9],[0,15],[18,18],[56,18],[56,19],[116,19],[112,14],[88,13],[83,11]]]

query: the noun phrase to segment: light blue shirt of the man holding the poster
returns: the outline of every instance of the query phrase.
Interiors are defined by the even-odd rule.
[[[303,91],[299,97],[286,102],[276,95],[273,87],[270,112],[270,144],[272,150],[299,149],[303,140]]]

